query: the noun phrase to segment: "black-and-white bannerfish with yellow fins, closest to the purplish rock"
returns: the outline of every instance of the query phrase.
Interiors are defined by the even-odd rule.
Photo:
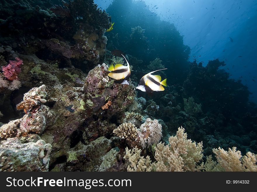
[[[122,55],[122,54],[121,54]],[[124,55],[122,55],[124,57]],[[125,58],[125,57],[124,57]],[[130,68],[129,68],[129,62],[125,58],[127,62],[127,66],[124,66],[122,64],[116,64],[113,66],[113,64],[110,65],[108,68],[108,71],[111,71],[108,76],[111,77],[112,79],[116,80],[116,83],[120,84],[129,84],[127,81],[130,77]]]

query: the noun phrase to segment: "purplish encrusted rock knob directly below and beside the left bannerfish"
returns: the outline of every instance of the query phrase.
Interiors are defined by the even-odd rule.
[[[95,67],[88,73],[84,84],[85,106],[96,112],[103,110],[102,115],[111,117],[125,111],[135,97],[133,85],[116,84],[108,77],[105,65]]]

